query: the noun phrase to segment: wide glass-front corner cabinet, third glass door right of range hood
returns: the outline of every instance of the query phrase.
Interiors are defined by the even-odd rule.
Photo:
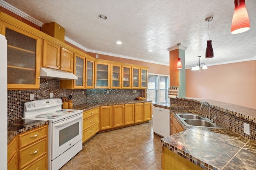
[[[110,88],[110,65],[108,63],[95,62],[94,88]]]

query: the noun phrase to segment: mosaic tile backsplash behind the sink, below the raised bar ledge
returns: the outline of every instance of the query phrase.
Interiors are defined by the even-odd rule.
[[[206,115],[208,114],[208,107],[203,106],[202,110],[200,110],[200,105],[202,102],[179,98],[179,99],[170,99],[170,104],[180,104],[180,105],[188,105],[193,106],[194,110]],[[210,104],[211,105],[211,104]],[[234,108],[235,110],[236,108]],[[255,118],[248,119],[248,116],[242,115],[240,113],[236,113],[234,111],[230,111],[225,108],[220,108],[217,106],[210,106],[210,115],[211,118],[218,116],[217,124],[220,124],[247,139],[256,140],[256,123]],[[239,116],[238,116],[239,115]],[[244,122],[250,125],[250,135],[244,133]]]

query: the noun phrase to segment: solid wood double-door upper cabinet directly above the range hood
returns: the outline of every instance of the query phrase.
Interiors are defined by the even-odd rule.
[[[73,72],[74,53],[44,40],[42,66]]]

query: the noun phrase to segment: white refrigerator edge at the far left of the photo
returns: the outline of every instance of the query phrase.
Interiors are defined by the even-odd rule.
[[[7,40],[0,34],[0,165],[7,170]]]

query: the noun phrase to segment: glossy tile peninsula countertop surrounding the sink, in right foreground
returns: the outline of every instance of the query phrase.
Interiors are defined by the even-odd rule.
[[[161,104],[153,105],[159,107]],[[168,107],[168,104],[162,105]],[[175,113],[200,114],[195,110],[172,110],[177,120]],[[256,141],[226,128],[188,127],[179,123],[184,131],[162,138],[164,147],[206,170],[256,169]]]

